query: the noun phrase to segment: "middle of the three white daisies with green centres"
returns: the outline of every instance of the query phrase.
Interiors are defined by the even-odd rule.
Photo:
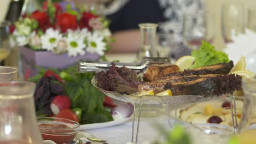
[[[68,32],[67,38],[67,52],[68,56],[77,56],[85,54],[84,37],[80,37],[80,34],[76,32]]]

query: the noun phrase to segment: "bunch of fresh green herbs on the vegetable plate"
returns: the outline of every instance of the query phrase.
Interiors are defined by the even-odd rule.
[[[38,75],[28,79],[28,81],[38,82],[43,77],[46,70],[37,68],[39,69]],[[105,95],[91,84],[91,79],[96,73],[78,73],[75,66],[64,70],[48,70],[60,75],[65,80],[63,87],[72,101],[71,109],[79,108],[82,110],[81,124],[113,121],[110,112],[103,106]]]

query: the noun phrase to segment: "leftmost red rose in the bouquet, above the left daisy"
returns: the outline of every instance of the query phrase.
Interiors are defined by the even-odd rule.
[[[38,10],[34,11],[34,13],[32,13],[32,15],[30,16],[30,18],[36,20],[40,28],[46,25],[50,25],[50,17],[48,16],[47,13],[43,11],[38,11]]]

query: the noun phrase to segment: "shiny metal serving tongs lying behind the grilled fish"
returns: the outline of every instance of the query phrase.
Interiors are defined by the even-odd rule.
[[[113,62],[91,61],[87,59],[79,59],[77,61],[78,73],[86,73],[89,71],[108,70]],[[126,67],[135,71],[146,71],[153,64],[171,64],[170,57],[145,57],[138,63],[120,63],[114,62],[116,67]]]

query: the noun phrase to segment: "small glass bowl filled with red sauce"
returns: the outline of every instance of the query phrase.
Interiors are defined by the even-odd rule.
[[[71,143],[79,132],[79,123],[65,118],[37,117],[37,124],[43,139],[57,144]]]

